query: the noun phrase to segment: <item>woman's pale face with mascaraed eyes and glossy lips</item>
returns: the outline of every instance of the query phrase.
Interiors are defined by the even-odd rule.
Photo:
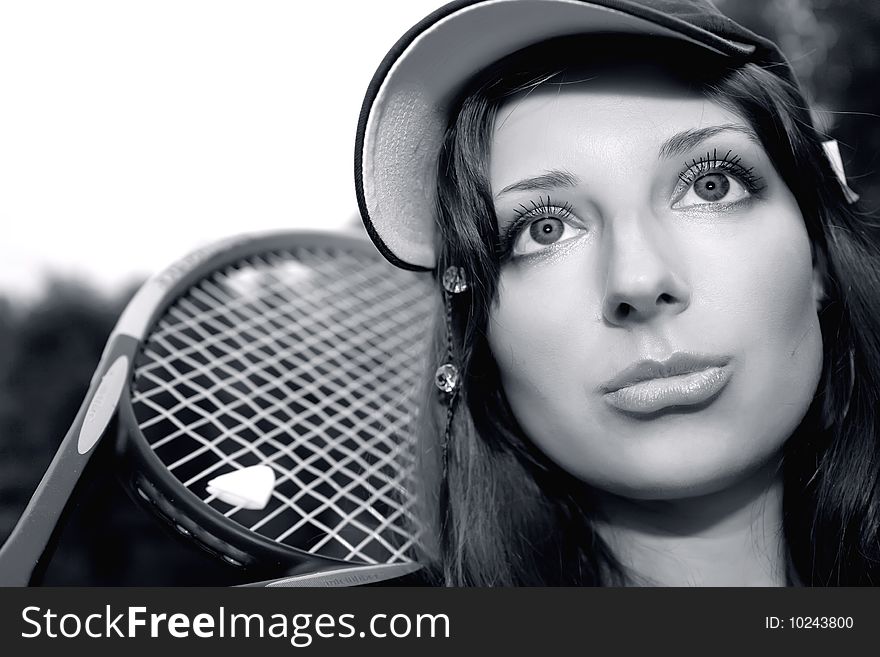
[[[741,117],[656,72],[545,85],[499,112],[490,178],[489,343],[535,444],[643,499],[779,454],[821,372],[821,276]]]

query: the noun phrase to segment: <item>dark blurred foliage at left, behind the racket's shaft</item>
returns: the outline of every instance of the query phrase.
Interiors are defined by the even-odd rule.
[[[0,297],[0,540],[12,531],[67,433],[133,292],[106,298],[87,285],[54,281],[25,306]],[[112,466],[112,458],[102,459],[89,471],[44,584],[242,581],[238,571],[172,538],[128,497]]]

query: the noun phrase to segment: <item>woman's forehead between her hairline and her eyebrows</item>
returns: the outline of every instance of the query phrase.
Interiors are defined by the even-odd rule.
[[[491,150],[493,183],[585,160],[658,157],[684,130],[744,124],[732,110],[681,80],[641,69],[569,76],[521,92],[499,109]]]

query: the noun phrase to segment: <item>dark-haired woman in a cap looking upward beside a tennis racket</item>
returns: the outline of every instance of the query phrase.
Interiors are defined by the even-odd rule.
[[[438,583],[878,581],[880,252],[823,142],[702,0],[458,2],[401,39],[356,184],[442,292]]]

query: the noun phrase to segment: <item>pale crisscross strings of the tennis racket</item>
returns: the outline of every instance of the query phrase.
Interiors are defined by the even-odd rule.
[[[267,254],[203,280],[157,323],[132,400],[190,491],[251,531],[366,563],[411,558],[411,436],[430,286],[334,249]],[[205,487],[258,463],[265,509]]]

